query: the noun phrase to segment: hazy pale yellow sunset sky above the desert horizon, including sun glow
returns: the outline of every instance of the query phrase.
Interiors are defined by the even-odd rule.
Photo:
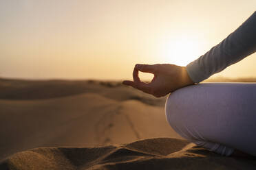
[[[255,7],[255,0],[0,0],[0,77],[130,80],[136,63],[185,66]],[[214,76],[256,77],[255,64],[253,54]]]

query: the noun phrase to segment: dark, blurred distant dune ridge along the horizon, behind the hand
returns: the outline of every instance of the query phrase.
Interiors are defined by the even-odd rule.
[[[165,97],[156,99],[138,90],[122,86],[120,82],[87,81],[28,81],[0,79],[0,99],[33,100],[52,99],[96,93],[109,99],[125,101],[135,99],[153,106],[164,106]]]

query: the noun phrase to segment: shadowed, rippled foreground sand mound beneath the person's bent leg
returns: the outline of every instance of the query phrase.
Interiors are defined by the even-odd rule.
[[[187,141],[152,138],[105,147],[48,147],[10,156],[1,169],[255,169],[255,160],[224,158]]]

